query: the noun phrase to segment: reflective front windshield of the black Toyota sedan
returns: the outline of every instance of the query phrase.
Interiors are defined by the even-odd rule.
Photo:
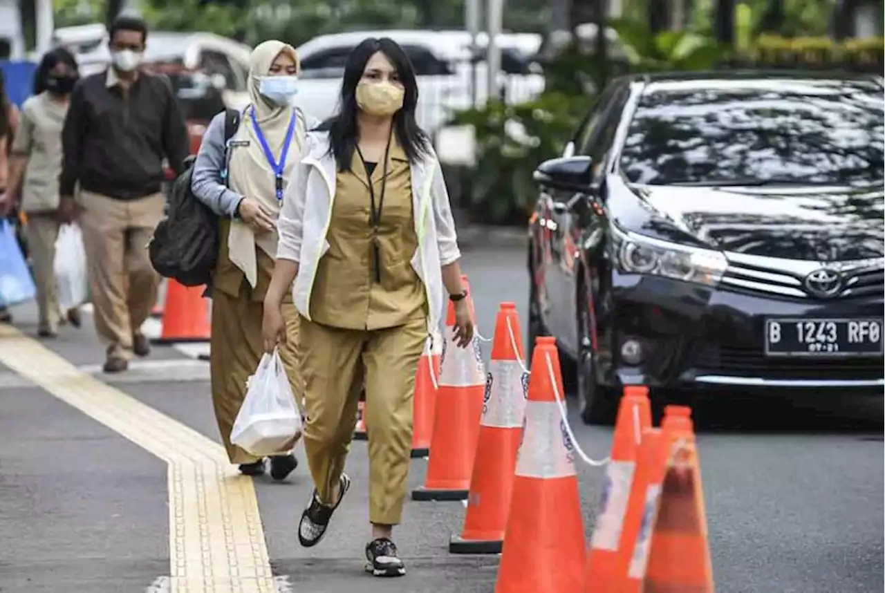
[[[660,83],[640,99],[621,151],[633,183],[885,180],[885,91],[860,81]]]

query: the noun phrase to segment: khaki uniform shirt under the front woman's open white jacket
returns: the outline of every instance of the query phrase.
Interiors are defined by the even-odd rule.
[[[373,330],[402,326],[427,316],[427,296],[412,256],[418,249],[412,212],[412,173],[404,150],[391,139],[387,182],[377,238],[370,222],[369,181],[357,151],[350,172],[338,172],[327,241],[311,297],[312,320],[331,327]],[[381,198],[384,163],[372,173],[375,207]],[[373,243],[379,248],[376,281]]]

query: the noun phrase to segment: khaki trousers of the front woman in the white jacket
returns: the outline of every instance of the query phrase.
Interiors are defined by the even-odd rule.
[[[415,373],[427,320],[357,331],[302,318],[299,331],[307,415],[304,451],[319,499],[335,502],[330,494],[344,471],[365,381],[369,520],[398,525],[412,455]]]

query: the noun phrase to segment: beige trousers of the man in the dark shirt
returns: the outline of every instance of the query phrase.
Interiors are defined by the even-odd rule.
[[[108,357],[132,358],[132,337],[157,302],[159,274],[148,243],[163,217],[165,197],[117,200],[81,192],[80,226],[89,265],[96,333]]]

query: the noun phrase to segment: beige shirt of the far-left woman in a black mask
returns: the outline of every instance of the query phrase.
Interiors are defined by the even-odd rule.
[[[19,130],[12,154],[27,156],[21,190],[25,212],[58,209],[58,175],[61,173],[61,130],[67,104],[52,101],[48,93],[32,96],[22,105]]]

